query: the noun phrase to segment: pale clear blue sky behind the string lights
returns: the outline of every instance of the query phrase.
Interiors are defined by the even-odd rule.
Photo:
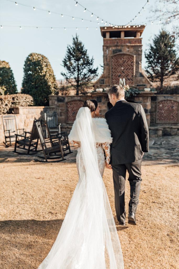
[[[147,0],[79,0],[83,6],[91,10],[96,15],[102,17],[116,25],[127,24],[142,8]],[[19,27],[3,27],[0,28],[0,60],[9,62],[17,83],[18,91],[21,88],[23,79],[23,66],[26,57],[31,52],[45,55],[54,70],[56,79],[62,79],[60,72],[63,70],[61,66],[64,58],[67,44],[71,44],[72,36],[77,33],[80,40],[85,44],[90,56],[94,57],[94,66],[103,65],[103,38],[100,34],[100,23],[96,22],[96,17],[91,17],[89,12],[83,12],[83,8],[75,6],[74,0],[57,1],[57,0],[19,0],[17,3],[23,3],[37,8],[47,9],[51,12],[64,13],[67,15],[82,17],[95,21],[82,22],[81,19],[72,20],[70,17],[61,17],[61,15],[48,14],[41,10],[33,10],[26,6],[15,5],[15,1],[0,0],[0,25],[22,26]],[[151,7],[156,5],[157,1],[150,0],[150,5],[145,6],[145,11],[138,16],[136,24],[148,21],[148,17],[152,16]],[[101,20],[99,20],[101,22]],[[34,29],[24,28],[23,26],[49,26],[49,27],[89,27],[86,29]],[[91,29],[90,27],[94,27]],[[98,27],[98,30],[96,30]],[[148,43],[161,29],[161,25],[151,25],[149,23],[142,34],[143,37],[143,62],[145,66],[144,50]],[[171,30],[172,26],[167,26]]]

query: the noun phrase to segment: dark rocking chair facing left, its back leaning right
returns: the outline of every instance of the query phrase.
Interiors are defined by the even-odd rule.
[[[16,135],[16,142],[14,146],[14,152],[18,154],[36,154],[38,153],[37,146],[38,146],[38,141],[39,141],[39,136],[38,132],[36,130],[35,123],[40,122],[41,120],[36,120],[34,119],[33,125],[32,125],[32,131],[31,132],[24,132],[24,135],[21,134],[15,134]],[[27,136],[27,134],[30,134],[30,136]],[[21,140],[18,140],[18,138],[21,137]],[[17,146],[17,144],[19,146]],[[25,148],[27,147],[27,148]],[[20,153],[17,152],[16,149],[20,148],[23,150],[27,150],[27,153]],[[32,149],[31,149],[32,148]]]

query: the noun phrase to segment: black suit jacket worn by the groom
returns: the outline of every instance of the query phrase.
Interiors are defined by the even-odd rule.
[[[105,113],[105,118],[113,137],[109,163],[141,160],[143,152],[149,151],[149,131],[143,107],[120,100]]]

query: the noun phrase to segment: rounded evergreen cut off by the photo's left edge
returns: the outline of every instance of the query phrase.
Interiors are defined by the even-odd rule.
[[[3,94],[16,94],[17,85],[12,69],[8,62],[0,61],[0,87],[4,89]],[[0,95],[1,95],[0,92]]]

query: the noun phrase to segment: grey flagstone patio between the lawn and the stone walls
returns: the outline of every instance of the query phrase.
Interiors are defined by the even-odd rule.
[[[38,146],[41,149],[41,146]],[[42,156],[42,152],[34,155],[19,155],[13,152],[14,146],[5,147],[0,145],[0,162],[34,162]],[[63,162],[76,162],[77,148],[71,147],[73,153],[65,156]],[[24,153],[24,151],[21,150]],[[178,136],[163,136],[154,137],[149,141],[149,152],[144,153],[143,165],[152,164],[171,164],[179,161],[179,137]]]

